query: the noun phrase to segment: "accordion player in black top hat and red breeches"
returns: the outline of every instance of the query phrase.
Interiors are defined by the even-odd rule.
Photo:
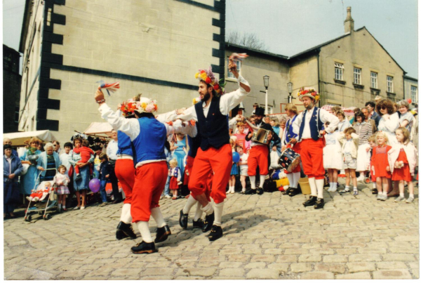
[[[268,140],[273,140],[272,150],[276,151],[276,145],[281,143],[281,139],[272,129],[270,124],[266,124],[262,121],[265,116],[265,110],[262,107],[257,107],[255,109],[255,126],[253,126],[253,131],[257,132],[259,129],[265,129],[270,131]],[[253,131],[249,131],[246,136],[246,140],[250,140],[253,136]],[[250,178],[250,189],[244,192],[245,195],[258,195],[263,194],[263,183],[265,183],[265,178],[269,174],[269,145],[265,143],[259,143],[255,140],[252,140],[250,145],[250,154],[248,156],[248,176]],[[256,190],[256,169],[259,166],[260,169],[260,184]]]

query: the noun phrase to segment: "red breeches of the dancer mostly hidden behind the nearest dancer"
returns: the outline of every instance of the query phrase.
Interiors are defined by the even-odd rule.
[[[131,204],[133,185],[135,185],[135,165],[132,159],[117,159],[114,169],[117,179],[123,188],[124,204]]]

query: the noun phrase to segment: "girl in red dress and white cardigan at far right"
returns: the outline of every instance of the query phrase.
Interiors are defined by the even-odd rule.
[[[414,201],[414,184],[412,183],[415,166],[417,165],[417,149],[410,143],[410,133],[405,127],[400,127],[396,131],[396,140],[398,145],[394,145],[389,152],[390,171],[392,173],[392,180],[399,182],[399,197],[396,197],[395,202],[405,200],[403,192],[405,190],[404,182],[408,183],[409,197],[406,199],[407,203]]]

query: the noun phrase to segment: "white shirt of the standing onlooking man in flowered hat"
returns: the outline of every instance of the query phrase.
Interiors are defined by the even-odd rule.
[[[301,139],[304,140],[306,138],[312,138],[312,133],[310,132],[310,119],[312,119],[312,115],[314,112],[314,107],[311,110],[307,110],[307,114],[305,114],[305,121],[304,121],[304,130],[302,131]],[[293,122],[293,131],[294,133],[298,133],[300,135],[300,125],[302,121],[302,114],[304,112],[301,112],[298,114],[297,119]],[[334,114],[330,114],[328,111],[319,108],[320,113],[320,120],[323,124],[325,124],[327,121],[330,123],[329,126],[325,129],[326,132],[331,132],[336,129],[339,123],[338,117],[336,117]],[[319,129],[321,131],[321,129]]]

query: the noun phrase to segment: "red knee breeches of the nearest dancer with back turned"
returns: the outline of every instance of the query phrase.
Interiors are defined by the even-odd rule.
[[[130,211],[132,222],[149,221],[151,209],[159,207],[159,197],[167,177],[168,166],[165,161],[147,163],[136,168]]]

